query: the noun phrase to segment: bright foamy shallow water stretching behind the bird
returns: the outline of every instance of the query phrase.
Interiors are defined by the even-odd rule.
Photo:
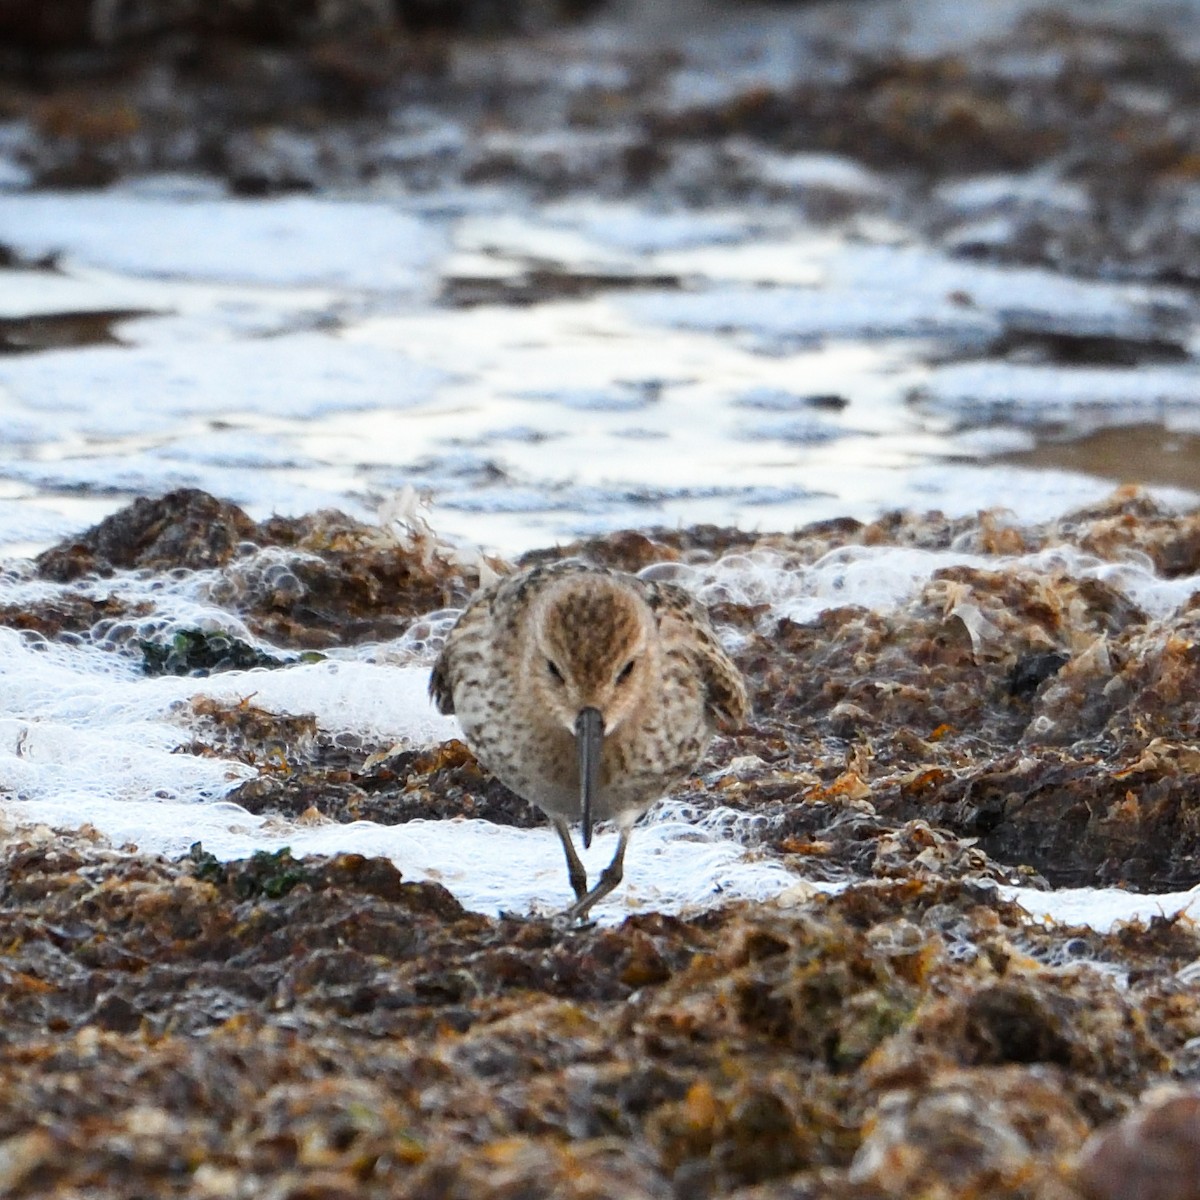
[[[1170,289],[956,263],[890,226],[833,235],[775,210],[509,208],[194,198],[179,181],[0,196],[6,240],[60,263],[2,272],[6,317],[152,313],[94,325],[102,344],[0,359],[0,544],[185,485],[259,517],[370,515],[413,485],[442,532],[506,553],[890,508],[1036,520],[1138,469],[1056,451],[1063,431],[1195,420],[1190,360],[990,356],[1030,328],[1184,336]],[[594,294],[437,299],[533,263]],[[1022,466],[996,464],[1006,451]],[[1138,478],[1194,494],[1186,474]]]

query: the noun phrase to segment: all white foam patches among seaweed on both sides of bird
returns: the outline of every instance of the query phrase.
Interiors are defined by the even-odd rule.
[[[1162,580],[1144,563],[1105,563],[1064,547],[1007,560],[1022,571],[1105,578],[1153,614],[1164,614],[1200,587],[1200,578]],[[888,610],[952,564],[997,565],[959,551],[846,547],[805,568],[770,552],[728,556],[709,566],[650,570],[707,600],[770,605],[772,617],[811,619],[833,605]],[[71,587],[101,600],[113,595],[152,611],[97,626],[95,637],[49,642],[0,630],[0,796],[20,820],[52,826],[90,823],[116,844],[184,853],[194,841],[222,858],[289,846],[295,854],[355,851],[388,854],[409,878],[436,880],[466,905],[487,912],[552,911],[565,901],[565,872],[548,829],[517,830],[481,821],[415,821],[402,826],[293,823],[254,816],[226,797],[254,768],[220,755],[188,752],[194,737],[188,701],[206,696],[269,712],[311,714],[329,734],[365,745],[420,746],[457,736],[452,719],[426,697],[427,660],[452,612],[431,614],[413,637],[331,652],[319,662],[232,671],[210,678],[148,678],[131,648],[137,637],[175,629],[250,631],[211,596],[211,572],[161,577],[118,572]],[[0,576],[0,599],[35,604],[61,586],[28,569]],[[260,649],[270,649],[254,642]],[[617,920],[641,908],[683,912],[724,899],[764,900],[797,877],[746,850],[752,818],[725,810],[701,814],[680,802],[659,805],[631,842],[628,886],[601,908]],[[612,853],[602,833],[588,856],[593,871]],[[752,840],[752,839],[751,839]],[[1036,917],[1108,928],[1118,919],[1175,912],[1196,895],[1127,892],[1014,890]]]

